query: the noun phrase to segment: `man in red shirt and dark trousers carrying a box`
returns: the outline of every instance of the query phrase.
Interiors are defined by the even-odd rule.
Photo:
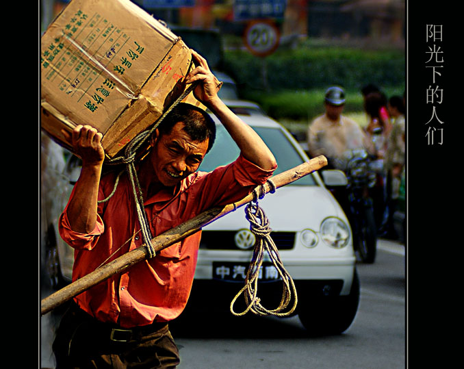
[[[185,81],[198,83],[196,99],[220,119],[240,156],[211,173],[196,172],[214,142],[214,121],[193,105],[177,105],[153,132],[149,153],[136,164],[153,237],[205,209],[244,198],[276,168],[257,133],[219,99],[218,79],[206,60],[195,51],[192,55],[198,66]],[[82,170],[60,217],[60,235],[75,249],[75,281],[142,246],[144,238],[127,176],[101,202],[116,181],[116,173],[102,175],[101,133],[78,126],[70,139]],[[179,351],[168,322],[188,301],[200,238],[195,233],[73,298],[53,342],[57,369],[175,368]]]

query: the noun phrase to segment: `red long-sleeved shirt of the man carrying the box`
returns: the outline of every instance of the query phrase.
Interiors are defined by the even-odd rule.
[[[243,199],[257,185],[265,183],[274,170],[263,170],[240,155],[211,173],[196,172],[175,188],[165,188],[144,207],[153,237],[164,233],[217,205]],[[116,173],[102,177],[99,200],[114,188]],[[74,194],[74,190],[71,197]],[[133,191],[127,175],[109,201],[99,203],[99,217],[89,234],[70,229],[67,207],[60,217],[60,235],[75,249],[73,281],[143,244]],[[169,321],[181,314],[194,279],[201,231],[159,251],[152,259],[139,262],[123,273],[94,285],[75,297],[88,314],[103,322],[136,327]]]

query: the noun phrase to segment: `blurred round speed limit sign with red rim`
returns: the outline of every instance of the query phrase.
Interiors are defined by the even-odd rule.
[[[271,21],[253,21],[244,32],[245,46],[251,53],[266,56],[279,46],[279,29]]]

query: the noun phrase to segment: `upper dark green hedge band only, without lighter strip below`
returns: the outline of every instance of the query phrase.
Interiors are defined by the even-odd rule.
[[[224,68],[238,84],[274,89],[311,89],[328,85],[359,89],[365,84],[404,84],[405,58],[401,51],[298,48],[277,51],[266,58],[244,50],[226,51]],[[263,83],[263,68],[267,85]]]

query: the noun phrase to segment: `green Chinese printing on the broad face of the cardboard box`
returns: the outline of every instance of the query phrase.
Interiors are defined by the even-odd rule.
[[[82,99],[87,110],[96,112],[109,98],[118,77],[129,68],[136,68],[134,63],[145,49],[140,42],[129,42],[130,39],[123,29],[101,14],[90,16],[77,10],[53,41],[42,47],[40,64],[44,79],[57,84],[69,99],[78,102]],[[102,70],[110,75],[96,84],[101,81]]]

